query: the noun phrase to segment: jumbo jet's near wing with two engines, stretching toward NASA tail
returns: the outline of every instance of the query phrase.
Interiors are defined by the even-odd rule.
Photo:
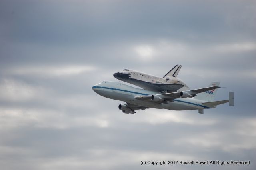
[[[198,89],[194,89],[194,90],[186,90],[186,91],[182,91],[182,92],[173,92],[173,93],[164,93],[164,94],[154,94],[154,95],[147,95],[147,96],[135,96],[135,99],[138,100],[142,100],[142,101],[150,101],[153,98],[156,98],[155,96],[158,96],[158,99],[155,99],[157,102],[164,102],[164,100],[174,100],[176,98],[180,98],[181,96],[189,97],[192,98],[194,96],[196,96],[196,94],[198,93],[202,93],[202,92],[206,92],[209,90],[213,90],[216,88],[220,88],[219,86],[210,86],[210,87],[206,87],[206,88],[198,88]],[[154,96],[154,97],[153,97]]]

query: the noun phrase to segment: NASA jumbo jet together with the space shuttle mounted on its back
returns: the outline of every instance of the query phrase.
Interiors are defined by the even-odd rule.
[[[177,75],[181,66],[176,65],[163,78],[124,69],[117,72],[114,77],[140,86],[135,88],[120,82],[102,81],[92,86],[92,90],[106,98],[121,100],[126,103],[119,104],[119,110],[123,113],[136,113],[136,110],[148,108],[169,110],[198,110],[203,114],[204,109],[216,108],[216,106],[228,103],[234,106],[234,92],[229,92],[229,100],[214,101],[219,82],[211,82],[204,88],[187,90],[188,86]]]

